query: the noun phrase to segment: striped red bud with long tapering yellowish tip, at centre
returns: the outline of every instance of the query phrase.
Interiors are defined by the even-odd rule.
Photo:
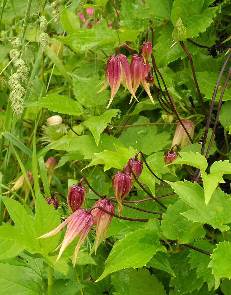
[[[119,216],[122,214],[123,207],[121,201],[131,190],[131,176],[128,172],[118,171],[113,177],[112,187],[118,202]]]

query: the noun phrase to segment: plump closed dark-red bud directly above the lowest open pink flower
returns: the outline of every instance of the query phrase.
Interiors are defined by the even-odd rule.
[[[72,213],[82,207],[86,198],[86,193],[87,190],[84,185],[78,186],[75,183],[70,187],[67,195],[67,204]]]

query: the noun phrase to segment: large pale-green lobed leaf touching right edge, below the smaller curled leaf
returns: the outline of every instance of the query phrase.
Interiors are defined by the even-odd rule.
[[[198,183],[187,180],[168,183],[176,194],[193,208],[181,213],[183,216],[194,222],[208,223],[221,231],[229,230],[230,227],[224,224],[231,222],[231,199],[221,189],[217,188],[213,192],[210,202],[206,205],[204,189]]]

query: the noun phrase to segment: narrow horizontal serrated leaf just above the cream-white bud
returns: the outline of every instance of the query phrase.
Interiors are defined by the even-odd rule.
[[[54,94],[39,98],[39,105],[60,114],[80,116],[84,110],[80,103],[67,96]]]

